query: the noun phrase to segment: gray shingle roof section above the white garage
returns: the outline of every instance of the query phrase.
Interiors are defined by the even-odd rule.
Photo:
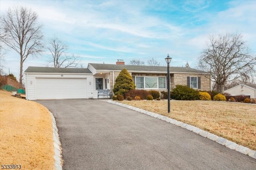
[[[25,73],[92,73],[87,68],[28,67]]]

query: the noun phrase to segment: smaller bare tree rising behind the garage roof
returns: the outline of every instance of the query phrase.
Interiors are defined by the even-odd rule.
[[[68,45],[54,37],[49,40],[49,46],[46,47],[51,53],[49,63],[53,63],[54,67],[82,67],[80,57],[67,55]]]

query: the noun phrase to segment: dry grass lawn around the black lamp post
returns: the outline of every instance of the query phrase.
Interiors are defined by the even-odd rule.
[[[222,136],[256,150],[256,105],[215,101],[120,101]]]

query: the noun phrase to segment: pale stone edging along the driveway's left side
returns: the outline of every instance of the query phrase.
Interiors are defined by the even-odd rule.
[[[53,114],[49,111],[52,117],[52,136],[53,136],[53,145],[54,145],[54,168],[56,170],[62,170],[62,163],[61,163],[61,147],[60,147],[60,138],[58,134],[58,128],[56,126],[56,121]]]

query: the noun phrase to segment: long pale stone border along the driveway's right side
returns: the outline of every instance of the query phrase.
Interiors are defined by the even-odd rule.
[[[133,106],[130,106],[130,105],[125,105],[123,103],[119,103],[119,102],[116,102],[116,101],[112,101],[112,100],[108,100],[107,101],[108,103],[112,103],[112,104],[115,104],[115,105],[119,105],[119,106],[122,106],[122,107],[126,107],[128,109],[132,109],[134,111],[138,111],[140,113],[143,113],[143,114],[146,114],[146,115],[149,115],[151,117],[154,117],[154,118],[157,118],[157,119],[161,119],[162,121],[166,121],[168,123],[171,123],[173,125],[177,125],[179,127],[182,127],[182,128],[186,128],[192,132],[195,132],[197,134],[200,134],[201,136],[205,137],[205,138],[209,138],[210,140],[213,140],[219,144],[222,144],[232,150],[236,150],[237,152],[240,152],[242,154],[246,154],[254,159],[256,159],[256,151],[255,150],[251,150],[249,148],[246,148],[244,146],[241,146],[241,145],[238,145],[234,142],[231,142],[225,138],[222,138],[222,137],[219,137],[215,134],[212,134],[210,132],[206,132],[198,127],[194,127],[192,125],[188,125],[186,123],[182,123],[180,121],[176,121],[174,119],[171,119],[169,117],[166,117],[166,116],[162,116],[162,115],[159,115],[159,114],[156,114],[156,113],[153,113],[153,112],[149,112],[149,111],[146,111],[144,109],[139,109],[137,107],[133,107]]]

